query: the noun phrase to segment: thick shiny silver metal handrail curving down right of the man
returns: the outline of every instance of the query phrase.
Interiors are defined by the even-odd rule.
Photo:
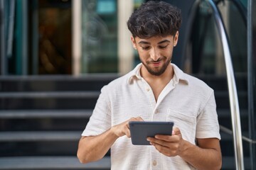
[[[217,24],[218,31],[220,33],[220,39],[223,44],[223,52],[225,58],[225,67],[228,77],[228,94],[230,98],[230,111],[232,119],[233,128],[233,138],[234,138],[234,149],[235,149],[235,166],[236,169],[244,169],[244,162],[242,156],[242,132],[240,125],[240,109],[238,104],[238,91],[235,84],[235,76],[233,71],[233,64],[231,62],[230,47],[228,45],[228,38],[225,33],[225,27],[223,26],[222,18],[220,17],[220,12],[215,6],[212,0],[207,0],[213,9],[215,23]]]

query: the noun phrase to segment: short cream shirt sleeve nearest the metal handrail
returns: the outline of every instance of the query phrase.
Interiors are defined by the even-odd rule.
[[[220,126],[216,112],[214,93],[212,92],[206,106],[197,118],[196,138],[213,138],[220,140]]]

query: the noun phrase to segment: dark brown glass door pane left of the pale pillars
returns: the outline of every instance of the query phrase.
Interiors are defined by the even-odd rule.
[[[38,74],[71,74],[71,2],[38,0],[37,3],[38,23],[33,24],[37,25],[38,42],[33,46],[38,55],[32,57],[38,57],[34,59],[38,60]]]

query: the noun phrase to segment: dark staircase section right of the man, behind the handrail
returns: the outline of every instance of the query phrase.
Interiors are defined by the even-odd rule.
[[[218,120],[220,123],[220,147],[223,155],[222,169],[235,169],[233,135],[223,131],[225,128],[232,130],[227,78],[225,76],[200,74],[194,76],[205,81],[206,84],[215,91],[215,101],[217,105]],[[235,79],[238,89],[242,135],[248,137],[247,75],[238,74],[235,76]],[[242,145],[245,169],[250,169],[250,146],[244,140],[242,141]]]

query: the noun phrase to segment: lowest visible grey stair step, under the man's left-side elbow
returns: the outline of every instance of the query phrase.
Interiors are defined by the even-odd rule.
[[[81,164],[77,157],[0,157],[0,169],[110,169],[110,157]]]

